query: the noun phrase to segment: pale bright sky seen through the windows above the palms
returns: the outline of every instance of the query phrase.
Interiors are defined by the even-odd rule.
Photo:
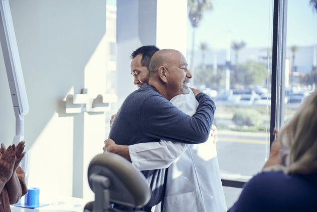
[[[272,42],[272,0],[212,0],[213,10],[203,15],[196,29],[196,44],[227,48],[228,41],[245,41],[247,47],[267,47]],[[193,28],[188,24],[188,46]],[[288,0],[286,45],[317,45],[317,12],[309,0]],[[195,45],[196,46],[196,45]]]

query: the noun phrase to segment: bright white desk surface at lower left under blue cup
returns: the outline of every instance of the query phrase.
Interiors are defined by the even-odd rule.
[[[90,200],[91,201],[91,200]],[[89,202],[89,200],[75,198],[75,197],[59,197],[54,202],[48,202],[49,205],[37,207],[34,209],[19,207],[11,205],[12,212],[35,212],[35,211],[58,211],[58,212],[82,212],[84,210],[85,204]],[[41,202],[42,203],[42,202]]]

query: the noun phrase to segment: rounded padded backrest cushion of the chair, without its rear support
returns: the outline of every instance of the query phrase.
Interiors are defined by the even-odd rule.
[[[96,155],[88,167],[88,182],[93,189],[91,175],[109,179],[109,200],[130,207],[142,207],[150,199],[151,192],[143,174],[123,157],[105,152]]]

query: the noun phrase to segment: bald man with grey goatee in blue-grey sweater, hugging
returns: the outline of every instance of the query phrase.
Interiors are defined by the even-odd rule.
[[[198,144],[205,142],[212,126],[215,103],[205,93],[193,89],[199,102],[192,117],[169,101],[189,92],[192,77],[185,57],[176,50],[156,52],[149,67],[149,82],[132,92],[122,103],[110,130],[109,138],[119,145],[169,141]],[[144,211],[164,197],[166,169],[142,171],[150,182],[152,196]]]

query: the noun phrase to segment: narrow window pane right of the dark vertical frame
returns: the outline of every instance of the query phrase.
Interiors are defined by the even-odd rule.
[[[287,4],[285,122],[317,83],[316,4],[309,0],[290,0]]]

